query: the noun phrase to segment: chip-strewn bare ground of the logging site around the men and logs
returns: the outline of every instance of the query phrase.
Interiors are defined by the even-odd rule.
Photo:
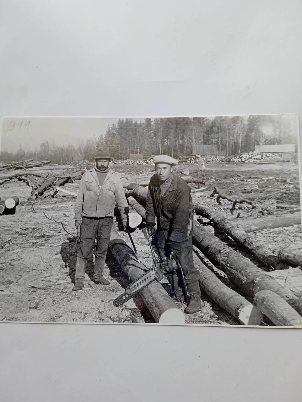
[[[186,165],[186,166],[194,166]],[[27,173],[52,172],[58,176],[66,174],[74,166],[48,165],[31,168]],[[148,181],[154,174],[152,165],[115,165],[123,183]],[[0,172],[6,175],[21,173],[22,170]],[[214,207],[226,218],[236,223],[251,224],[257,219],[267,217],[281,218],[300,211],[298,164],[276,163],[208,163],[199,172],[190,174],[193,203]],[[29,176],[30,177],[30,176]],[[182,175],[182,177],[185,177]],[[194,179],[207,180],[206,185],[193,183]],[[197,181],[197,180],[196,180]],[[77,193],[79,180],[67,183],[63,189]],[[246,203],[236,204],[212,195],[213,187],[219,188],[222,195],[230,199],[254,201],[256,207]],[[194,192],[194,189],[199,189]],[[54,191],[52,190],[52,193]],[[49,194],[48,194],[49,195]],[[124,272],[114,257],[108,252],[105,277],[110,285],[97,285],[93,282],[93,260],[88,263],[85,286],[82,291],[72,292],[76,262],[76,229],[74,228],[75,197],[58,192],[54,197],[38,197],[29,200],[31,187],[23,181],[8,181],[0,186],[1,199],[17,196],[20,203],[14,214],[0,216],[0,321],[26,322],[155,322],[139,294],[120,306],[114,300],[125,291],[129,284]],[[300,297],[302,294],[302,271],[290,268],[269,271],[259,260],[229,236],[219,232],[208,219],[196,218],[209,232],[215,232],[222,242],[247,256],[257,267],[273,276],[279,283],[291,289]],[[131,247],[130,240],[118,224],[115,225],[124,241]],[[280,221],[281,222],[281,221]],[[261,240],[273,253],[287,246],[301,243],[301,225],[280,226],[250,233],[251,238]],[[137,252],[147,267],[152,267],[152,257],[147,241],[141,230],[132,234]],[[153,239],[155,245],[155,239]],[[79,247],[79,245],[77,246]],[[228,277],[205,259],[203,262],[223,283],[236,290]],[[171,289],[164,279],[162,285],[170,294]],[[219,307],[202,290],[202,306],[199,312],[187,314],[186,324],[240,325],[231,314]],[[185,305],[176,302],[179,309]],[[263,326],[272,325],[264,318]]]

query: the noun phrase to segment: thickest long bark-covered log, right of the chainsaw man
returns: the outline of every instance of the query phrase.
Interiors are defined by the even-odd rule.
[[[228,275],[230,281],[238,287],[242,294],[254,298],[257,292],[268,289],[285,301],[293,301],[293,304],[298,302],[298,297],[290,289],[280,285],[248,258],[206,232],[198,222],[193,221],[193,225],[193,244],[200,248],[214,265]]]

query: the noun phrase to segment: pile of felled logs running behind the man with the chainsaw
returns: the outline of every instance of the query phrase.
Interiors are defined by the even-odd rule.
[[[128,191],[131,191],[131,194],[127,195]],[[132,183],[131,189],[125,190],[125,193],[129,205],[145,220],[147,189]],[[241,226],[237,222],[229,221],[216,209],[201,205],[195,205],[194,208],[197,214],[210,219],[220,230],[256,256],[269,270],[302,266],[301,250],[280,250],[277,255],[273,254],[261,242],[255,241],[247,234],[248,230],[245,231],[244,228],[250,227],[250,224]],[[272,218],[259,220],[264,219]],[[295,215],[294,221],[291,222],[300,223],[300,214],[299,218]],[[270,227],[267,220],[265,224]],[[274,223],[272,225],[275,227]],[[253,231],[255,227],[251,229]],[[260,225],[259,230],[261,229],[263,225]],[[195,220],[192,241],[197,248],[197,253],[193,254],[194,265],[200,272],[200,286],[221,308],[245,325],[260,325],[263,314],[275,325],[302,325],[302,298],[299,300],[290,289],[279,284],[249,258],[230,248]],[[202,263],[198,258],[199,254],[204,254],[215,267],[223,271],[236,287],[236,291],[223,284],[215,275],[215,271],[213,273]]]

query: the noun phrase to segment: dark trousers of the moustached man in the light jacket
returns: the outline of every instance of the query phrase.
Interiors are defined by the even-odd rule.
[[[87,260],[93,252],[95,258],[101,258],[105,263],[112,224],[112,216],[99,218],[83,216],[80,249],[77,256]],[[94,248],[95,239],[97,239],[97,246]]]

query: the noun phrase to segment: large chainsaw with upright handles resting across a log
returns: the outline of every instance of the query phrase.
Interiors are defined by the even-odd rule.
[[[176,261],[173,258],[173,252],[171,252],[170,259],[166,258],[166,257],[156,258],[155,252],[151,245],[151,240],[150,240],[151,234],[149,233],[147,228],[143,229],[143,234],[145,236],[145,239],[148,240],[148,243],[149,243],[149,247],[150,247],[152,259],[153,259],[153,267],[152,267],[152,269],[148,269],[146,267],[146,270],[147,270],[146,273],[144,273],[141,277],[139,277],[139,279],[130,283],[130,285],[128,285],[126,287],[126,294],[128,296],[134,295],[134,293],[137,293],[138,291],[144,289],[146,286],[150,285],[150,283],[152,283],[154,281],[158,281],[160,283],[164,273],[178,269]],[[130,233],[128,233],[128,235],[129,235],[129,237],[131,236]],[[130,240],[132,240],[132,239],[130,238]],[[132,242],[132,244],[133,244],[133,242]],[[135,248],[134,248],[134,252],[137,256],[137,252],[136,252]],[[138,258],[138,256],[137,256],[137,258]]]

